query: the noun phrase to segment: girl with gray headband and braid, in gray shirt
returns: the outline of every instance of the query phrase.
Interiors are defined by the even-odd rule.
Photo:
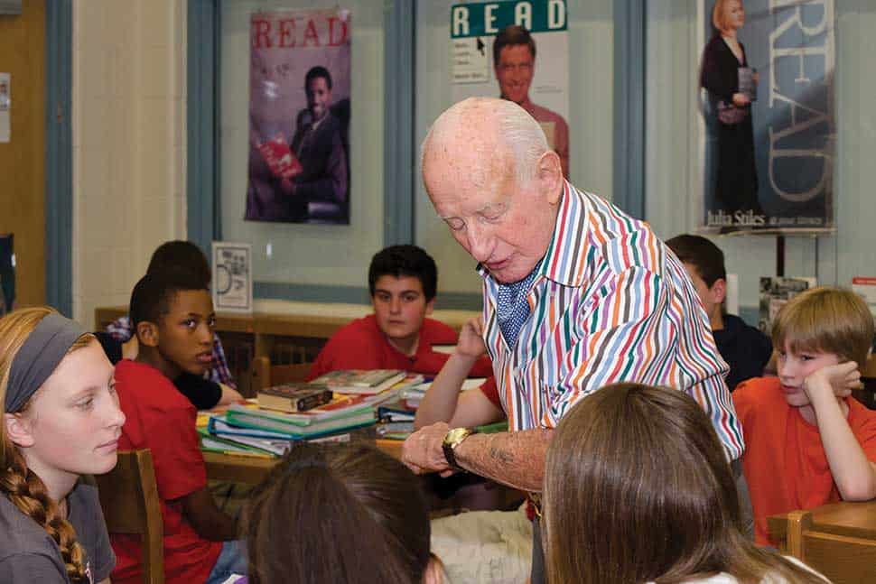
[[[108,581],[97,489],[125,414],[97,340],[50,308],[0,319],[0,582]]]

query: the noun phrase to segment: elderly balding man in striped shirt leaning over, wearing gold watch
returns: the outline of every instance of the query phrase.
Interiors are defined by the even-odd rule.
[[[409,468],[464,469],[537,493],[551,429],[620,381],[693,395],[739,459],[728,366],[684,266],[648,224],[564,181],[536,120],[507,100],[450,107],[422,157],[435,211],[479,263],[483,338],[509,431],[435,423],[405,441]]]

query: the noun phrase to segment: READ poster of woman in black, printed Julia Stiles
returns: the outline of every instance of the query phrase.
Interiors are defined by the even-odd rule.
[[[834,0],[699,0],[704,231],[834,227]]]

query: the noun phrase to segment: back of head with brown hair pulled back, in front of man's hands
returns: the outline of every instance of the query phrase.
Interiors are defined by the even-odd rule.
[[[367,444],[296,445],[246,517],[258,584],[419,583],[430,559],[420,482]]]

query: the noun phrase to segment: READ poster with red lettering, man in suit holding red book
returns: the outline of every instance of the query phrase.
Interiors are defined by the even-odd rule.
[[[349,224],[350,11],[250,20],[250,221]]]

